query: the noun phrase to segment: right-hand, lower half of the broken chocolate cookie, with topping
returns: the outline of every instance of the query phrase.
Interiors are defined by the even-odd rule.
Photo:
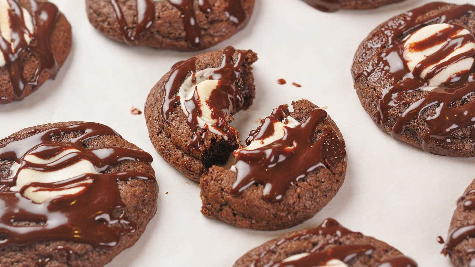
[[[213,166],[200,181],[201,213],[231,225],[285,229],[312,218],[340,189],[345,145],[327,113],[308,100],[276,108],[233,153],[230,169]]]

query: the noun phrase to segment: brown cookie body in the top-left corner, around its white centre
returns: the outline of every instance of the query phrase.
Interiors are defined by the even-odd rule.
[[[12,59],[0,67],[0,104],[22,100],[47,79],[55,78],[71,50],[71,25],[66,17],[54,4],[46,0],[36,1],[38,10],[35,11],[29,0],[15,0],[41,25],[34,27],[35,32],[29,45],[18,40],[19,48],[16,51],[19,52],[2,50],[3,55],[10,55]],[[40,13],[43,16],[41,19]],[[10,23],[14,24],[12,27],[18,27],[19,32],[23,32],[18,20],[10,20]]]

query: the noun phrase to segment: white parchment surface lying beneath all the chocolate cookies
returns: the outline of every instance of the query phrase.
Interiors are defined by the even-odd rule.
[[[475,159],[435,156],[393,141],[361,107],[350,72],[354,52],[372,29],[429,0],[336,13],[314,10],[301,0],[257,0],[247,27],[209,49],[232,45],[258,53],[256,100],[251,110],[235,116],[243,138],[277,105],[300,98],[328,106],[345,138],[349,164],[341,190],[313,219],[281,231],[238,229],[201,215],[198,184],[155,152],[143,114],[129,113],[133,105],[143,111],[161,76],[196,53],[116,43],[89,24],[84,0],[51,1],[73,27],[71,54],[55,81],[21,102],[0,106],[0,137],[38,124],[94,121],[153,155],[160,187],[157,214],[142,238],[108,266],[231,266],[266,240],[316,227],[327,217],[387,242],[421,267],[451,266],[439,254],[436,238],[447,236],[456,199],[474,178]],[[278,85],[278,78],[288,83]]]

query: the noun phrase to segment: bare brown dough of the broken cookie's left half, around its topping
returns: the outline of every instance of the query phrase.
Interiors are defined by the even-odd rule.
[[[227,49],[206,52],[194,57],[196,60],[193,71],[198,72],[206,68],[220,67],[224,60],[223,53],[231,51]],[[243,105],[231,112],[231,114],[234,114],[240,109],[247,109],[254,99],[255,86],[251,65],[257,60],[257,55],[250,50],[236,50],[232,55],[232,60],[230,61],[232,64],[237,62],[239,55],[245,55],[240,59],[242,60],[241,72],[236,82],[236,89],[242,95]],[[188,78],[191,75],[191,71],[185,74],[186,76],[178,83],[181,84]],[[233,136],[228,140],[224,140],[222,136],[201,128],[193,132],[189,124],[187,124],[187,116],[180,108],[180,103],[171,103],[171,105],[175,104],[177,108],[168,115],[169,122],[165,121],[161,114],[161,108],[162,105],[168,105],[163,102],[166,97],[164,86],[170,76],[171,72],[168,72],[160,79],[152,88],[145,103],[144,114],[150,139],[157,152],[175,169],[191,180],[199,181],[201,175],[207,173],[208,168],[213,164],[226,163],[229,155],[238,147],[239,141]],[[176,96],[176,94],[172,96]],[[204,132],[209,133],[206,134],[206,138],[201,142],[202,150],[187,150],[186,148],[193,141],[193,138],[204,134]]]

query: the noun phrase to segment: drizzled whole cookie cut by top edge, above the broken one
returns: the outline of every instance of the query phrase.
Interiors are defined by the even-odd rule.
[[[86,0],[91,24],[129,45],[202,50],[246,26],[254,0]]]

